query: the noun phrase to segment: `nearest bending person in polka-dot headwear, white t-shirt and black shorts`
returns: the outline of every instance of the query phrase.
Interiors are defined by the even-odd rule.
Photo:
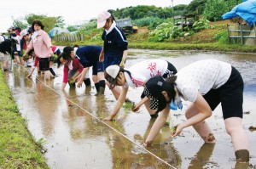
[[[154,122],[146,139],[150,144],[160,128],[164,126],[171,108],[182,108],[181,99],[189,100],[192,104],[185,111],[186,121],[177,125],[173,137],[179,135],[183,128],[193,126],[206,143],[215,143],[211,128],[205,121],[212,111],[221,103],[224,125],[230,135],[235,149],[236,161],[249,161],[249,145],[243,130],[242,103],[243,80],[241,74],[229,63],[215,59],[205,59],[185,66],[164,80],[154,76],[146,83],[147,95],[155,103],[165,103],[160,106],[163,110]]]

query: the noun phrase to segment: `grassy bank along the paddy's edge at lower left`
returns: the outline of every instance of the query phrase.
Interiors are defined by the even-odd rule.
[[[0,168],[49,168],[0,70]]]

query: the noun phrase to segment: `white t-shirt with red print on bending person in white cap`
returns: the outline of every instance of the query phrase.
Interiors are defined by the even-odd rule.
[[[168,68],[168,63],[163,59],[147,59],[126,69],[131,72],[131,77],[125,72],[126,83],[124,87],[141,87],[143,83],[153,76],[163,76]]]

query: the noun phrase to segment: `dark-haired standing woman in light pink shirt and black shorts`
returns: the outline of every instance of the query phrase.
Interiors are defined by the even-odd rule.
[[[32,40],[27,46],[25,54],[34,48],[35,54],[39,58],[39,70],[45,71],[44,77],[49,79],[49,57],[53,55],[52,44],[48,33],[44,31],[44,25],[40,20],[34,20],[32,22]]]

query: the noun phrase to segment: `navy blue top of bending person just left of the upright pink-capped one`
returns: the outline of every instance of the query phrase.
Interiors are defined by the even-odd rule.
[[[100,46],[84,46],[78,48],[76,56],[78,57],[80,64],[85,67],[95,65],[99,61],[102,47]]]

